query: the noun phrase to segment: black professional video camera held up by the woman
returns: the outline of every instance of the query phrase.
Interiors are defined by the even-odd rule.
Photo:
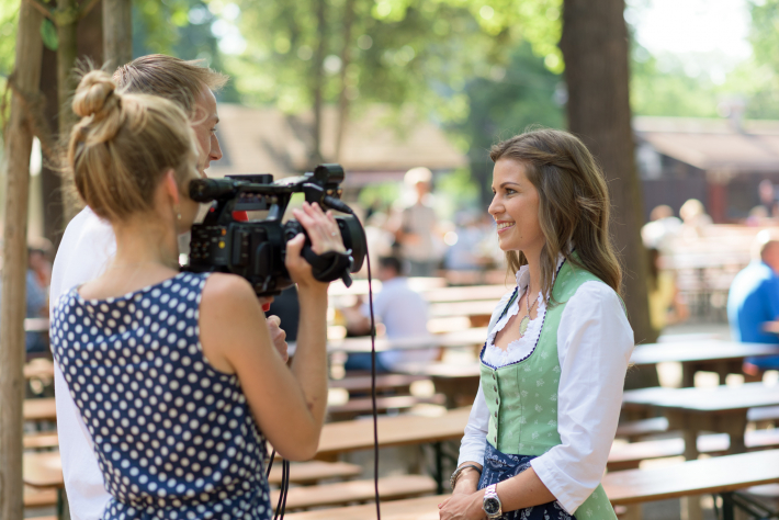
[[[316,255],[306,235],[302,255],[317,280],[331,282],[340,278],[351,285],[349,273],[362,268],[368,246],[360,221],[340,201],[342,181],[340,165],[319,165],[313,172],[276,182],[269,173],[192,181],[190,197],[212,205],[203,224],[192,226],[190,262],[184,269],[238,274],[251,283],[258,296],[280,294],[292,285],[284,267],[286,242],[298,233],[305,234],[297,221],[282,224],[282,217],[292,195],[303,193],[308,203],[348,214],[336,217],[346,253]],[[261,221],[240,219],[244,212],[251,211],[268,211],[268,216]]]

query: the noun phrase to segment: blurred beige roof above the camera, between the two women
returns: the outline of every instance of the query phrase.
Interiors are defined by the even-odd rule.
[[[271,109],[237,104],[218,105],[218,136],[224,158],[210,176],[235,173],[297,174],[308,166],[312,143],[311,113],[287,115]],[[347,170],[346,185],[400,180],[410,168],[451,170],[466,165],[466,157],[428,121],[413,122],[400,115],[393,124],[391,110],[373,106],[357,114],[347,127],[340,160],[335,157],[336,109],[323,113],[323,155]]]

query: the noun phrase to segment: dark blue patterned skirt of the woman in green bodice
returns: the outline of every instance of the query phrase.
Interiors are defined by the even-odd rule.
[[[489,442],[486,444],[484,468],[482,470],[482,478],[478,481],[479,489],[519,475],[529,468],[530,461],[535,459],[527,455],[507,455],[493,448]],[[557,500],[504,512],[500,518],[504,520],[576,520],[576,517],[568,515]]]

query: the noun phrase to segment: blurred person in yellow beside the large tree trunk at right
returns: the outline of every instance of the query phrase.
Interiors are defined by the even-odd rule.
[[[646,281],[650,296],[652,328],[662,332],[668,325],[678,324],[690,316],[684,298],[676,286],[674,273],[662,268],[661,251],[648,248],[650,278]]]

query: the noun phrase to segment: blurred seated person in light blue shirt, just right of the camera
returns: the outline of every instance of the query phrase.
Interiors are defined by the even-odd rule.
[[[419,293],[408,286],[403,275],[403,262],[398,257],[379,259],[376,278],[382,290],[373,299],[376,320],[384,325],[388,339],[419,338],[428,336],[428,304]],[[352,336],[371,332],[370,307],[366,303],[342,308],[347,331]],[[424,363],[437,359],[439,349],[392,350],[379,352],[376,371],[393,372],[406,363]],[[371,370],[369,352],[350,353],[343,365],[346,370]]]

